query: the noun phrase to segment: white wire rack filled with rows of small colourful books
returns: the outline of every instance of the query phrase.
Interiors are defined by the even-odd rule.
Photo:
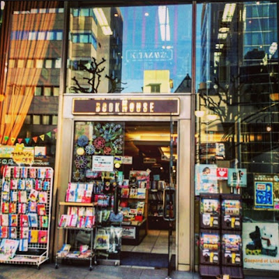
[[[0,262],[40,264],[49,259],[53,169],[5,167],[1,192]],[[16,249],[8,251],[8,243]]]

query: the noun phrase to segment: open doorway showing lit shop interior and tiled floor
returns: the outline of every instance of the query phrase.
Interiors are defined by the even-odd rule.
[[[124,153],[133,158],[132,164],[123,165],[124,176],[129,177],[129,172],[142,170],[149,172],[150,181],[144,206],[146,224],[138,234],[126,234],[126,228],[133,231],[135,227],[131,226],[133,221],[127,222],[124,216],[121,265],[167,268],[170,252],[174,267],[176,228],[174,222],[169,223],[163,218],[163,191],[170,181],[176,187],[177,122],[172,128],[169,121],[126,122]],[[131,199],[124,198],[122,202],[127,202],[129,207]]]

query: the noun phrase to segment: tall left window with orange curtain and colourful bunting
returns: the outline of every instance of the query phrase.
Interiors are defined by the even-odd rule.
[[[1,169],[15,165],[14,150],[32,150],[34,166],[54,167],[57,121],[50,119],[58,114],[52,90],[59,89],[60,70],[53,65],[62,41],[46,34],[62,33],[63,2],[1,1],[0,17]],[[17,164],[24,165],[24,156]]]

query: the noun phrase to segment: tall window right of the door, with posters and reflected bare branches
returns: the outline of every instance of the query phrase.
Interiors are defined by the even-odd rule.
[[[204,2],[197,22],[197,212],[202,193],[240,194],[244,268],[279,270],[278,3]]]

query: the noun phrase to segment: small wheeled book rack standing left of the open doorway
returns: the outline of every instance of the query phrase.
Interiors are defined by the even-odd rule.
[[[58,262],[67,260],[88,260],[92,270],[92,259],[96,263],[96,252],[93,250],[95,226],[95,207],[93,203],[59,202],[59,224],[56,243],[63,233],[63,246],[57,250],[55,268]]]

